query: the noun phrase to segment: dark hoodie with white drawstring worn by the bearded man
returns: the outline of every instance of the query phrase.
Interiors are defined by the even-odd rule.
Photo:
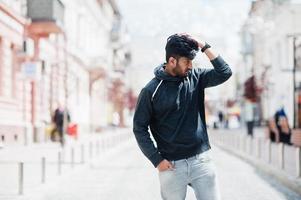
[[[155,78],[141,90],[133,131],[140,149],[155,167],[163,159],[184,159],[210,149],[204,89],[232,75],[220,56],[211,63],[214,69],[193,68],[187,77],[170,76],[160,65]]]

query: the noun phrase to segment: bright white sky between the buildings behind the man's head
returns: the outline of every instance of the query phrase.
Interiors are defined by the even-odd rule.
[[[137,87],[153,77],[164,62],[166,39],[174,33],[189,33],[207,41],[228,62],[238,62],[242,23],[250,0],[116,0],[131,38]],[[209,64],[197,56],[199,63]]]

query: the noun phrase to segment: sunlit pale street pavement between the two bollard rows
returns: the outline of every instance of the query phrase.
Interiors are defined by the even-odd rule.
[[[223,200],[298,200],[300,196],[237,157],[213,147]],[[160,199],[157,170],[134,139],[100,156],[91,165],[22,197],[20,200]],[[187,200],[195,199],[188,189]]]

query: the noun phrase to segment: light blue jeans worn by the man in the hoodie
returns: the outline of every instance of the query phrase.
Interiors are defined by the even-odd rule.
[[[209,151],[171,163],[174,170],[159,172],[163,200],[184,200],[188,185],[193,188],[197,200],[220,199]]]

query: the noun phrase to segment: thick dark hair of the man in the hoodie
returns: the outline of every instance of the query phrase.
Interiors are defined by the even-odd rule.
[[[165,46],[166,62],[170,57],[186,57],[193,60],[198,52],[198,42],[187,34],[174,34],[167,38]]]

